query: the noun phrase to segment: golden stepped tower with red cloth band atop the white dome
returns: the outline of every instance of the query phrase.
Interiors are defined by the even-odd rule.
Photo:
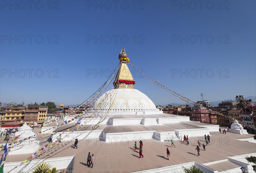
[[[117,72],[113,85],[115,88],[134,88],[135,80],[133,79],[131,72],[126,64],[129,62],[128,55],[125,53],[125,48],[122,48],[119,54],[120,68]]]

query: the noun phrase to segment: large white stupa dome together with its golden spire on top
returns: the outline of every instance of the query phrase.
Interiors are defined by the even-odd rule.
[[[116,74],[115,81],[113,82],[114,88],[102,94],[95,103],[95,109],[108,110],[110,105],[111,113],[128,113],[128,114],[145,114],[145,113],[160,113],[156,108],[154,102],[151,101],[148,96],[143,94],[137,89],[134,89],[135,80],[127,66],[127,62],[130,61],[128,55],[125,53],[125,48],[122,48],[119,54],[120,68]],[[117,90],[117,91],[116,91]],[[108,98],[106,96],[114,99]],[[112,96],[114,94],[114,96]],[[105,101],[103,101],[105,99]],[[113,102],[113,103],[112,103]]]

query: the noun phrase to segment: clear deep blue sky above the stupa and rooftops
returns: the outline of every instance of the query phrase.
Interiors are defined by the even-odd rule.
[[[194,101],[256,95],[254,0],[0,3],[0,102],[81,103],[123,46],[133,65]],[[155,104],[181,102],[129,68]]]

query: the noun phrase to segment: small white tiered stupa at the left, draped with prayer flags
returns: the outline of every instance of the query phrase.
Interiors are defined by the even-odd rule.
[[[39,149],[39,140],[37,140],[37,137],[35,137],[34,135],[35,133],[32,132],[32,128],[30,128],[26,123],[24,123],[23,126],[21,126],[19,130],[15,133],[15,136],[19,136],[17,141],[21,139],[26,139],[29,136],[32,136],[32,138],[24,140],[21,143],[18,143],[13,148],[11,148],[8,154],[15,155],[35,153],[35,151]]]

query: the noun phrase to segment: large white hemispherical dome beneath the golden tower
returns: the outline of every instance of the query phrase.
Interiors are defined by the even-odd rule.
[[[132,88],[118,88],[107,91],[99,97],[93,107],[96,110],[103,109],[103,111],[107,111],[110,106],[111,113],[120,111],[122,113],[136,113],[137,111],[160,112],[148,96]]]

